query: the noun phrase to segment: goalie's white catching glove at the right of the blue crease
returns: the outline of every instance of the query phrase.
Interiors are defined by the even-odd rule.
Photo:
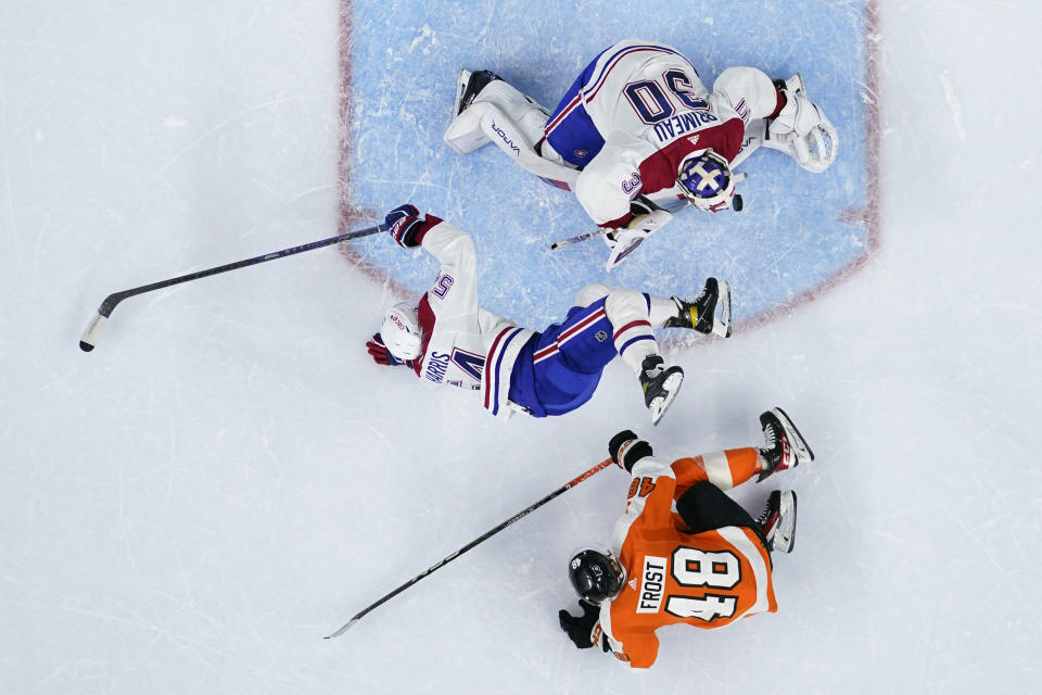
[[[824,172],[836,161],[839,150],[835,126],[817,104],[801,93],[787,89],[782,93],[785,106],[767,127],[764,144],[787,152],[808,172]]]

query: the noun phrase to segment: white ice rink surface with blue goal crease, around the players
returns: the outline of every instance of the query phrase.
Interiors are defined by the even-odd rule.
[[[1042,10],[801,5],[2,0],[0,692],[1035,692]],[[552,108],[627,37],[707,85],[801,71],[841,161],[758,153],[747,211],[678,217],[611,277],[596,240],[551,255],[577,204],[441,142],[456,72]],[[434,273],[371,237],[128,300],[77,349],[110,292],[404,200],[470,229],[483,301],[533,326],[589,280],[713,273],[740,330],[670,343],[688,379],[658,428],[620,364],[579,412],[503,425],[370,362]],[[608,469],[321,639],[618,430],[692,455],[759,443],[774,405],[817,454],[736,491],[800,495],[776,615],[662,630],[646,672],[576,650],[556,612],[624,506]]]

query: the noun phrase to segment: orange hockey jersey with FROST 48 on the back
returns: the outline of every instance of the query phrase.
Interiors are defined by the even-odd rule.
[[[691,534],[674,506],[697,482],[723,490],[745,482],[759,470],[757,456],[755,448],[737,448],[672,466],[646,456],[633,466],[626,513],[611,543],[626,584],[601,605],[595,644],[602,632],[618,659],[647,668],[659,650],[658,628],[720,628],[777,610],[771,558],[755,532],[732,526]]]

